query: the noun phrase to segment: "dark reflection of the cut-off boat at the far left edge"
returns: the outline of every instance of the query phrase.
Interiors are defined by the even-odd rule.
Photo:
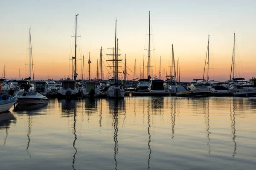
[[[7,140],[10,125],[12,123],[16,124],[16,122],[17,122],[17,119],[11,112],[8,111],[6,113],[0,114],[0,130],[5,129],[5,131],[6,131],[6,136],[4,138],[3,145],[6,145],[6,140]]]

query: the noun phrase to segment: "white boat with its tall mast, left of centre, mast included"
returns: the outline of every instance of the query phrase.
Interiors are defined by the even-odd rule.
[[[76,14],[76,21],[77,21]],[[75,57],[72,57],[72,59],[75,60],[75,67],[74,67],[74,79],[70,79],[69,77],[67,79],[61,80],[62,87],[60,90],[58,90],[58,99],[78,99],[83,96],[83,88],[81,85],[81,82],[76,81],[76,77],[78,74],[76,73],[76,37],[75,36]]]

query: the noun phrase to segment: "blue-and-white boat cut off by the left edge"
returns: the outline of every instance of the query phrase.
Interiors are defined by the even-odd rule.
[[[4,77],[0,77],[0,82],[6,80]],[[11,96],[8,94],[7,91],[2,91],[2,85],[0,85],[0,113],[9,111],[10,108],[15,104],[17,101],[17,96]]]

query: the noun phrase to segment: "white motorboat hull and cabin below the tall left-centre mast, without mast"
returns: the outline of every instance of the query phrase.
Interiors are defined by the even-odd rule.
[[[83,96],[81,82],[73,79],[61,80],[62,87],[58,90],[58,99],[78,99]]]

